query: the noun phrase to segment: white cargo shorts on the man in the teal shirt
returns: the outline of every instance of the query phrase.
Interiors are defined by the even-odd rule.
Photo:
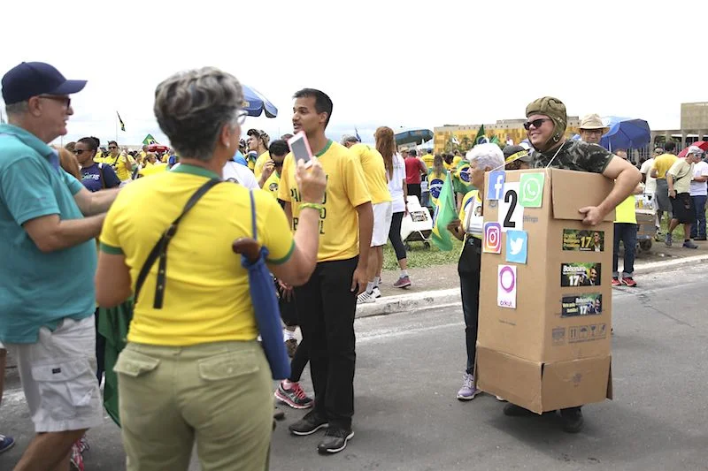
[[[64,319],[53,332],[42,327],[35,344],[6,347],[17,360],[36,433],[90,429],[104,422],[94,315]]]

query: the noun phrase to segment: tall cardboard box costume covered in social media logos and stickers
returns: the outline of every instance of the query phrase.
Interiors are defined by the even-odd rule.
[[[482,391],[537,413],[611,393],[614,211],[593,227],[578,211],[610,191],[611,180],[587,172],[486,175],[475,373]]]

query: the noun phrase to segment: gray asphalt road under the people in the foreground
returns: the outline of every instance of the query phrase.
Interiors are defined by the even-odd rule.
[[[487,395],[455,399],[465,364],[459,307],[358,319],[356,436],[343,452],[320,457],[321,432],[289,436],[286,425],[304,413],[288,410],[273,435],[271,468],[708,469],[707,279],[706,267],[695,267],[615,290],[615,399],[584,407],[578,435],[564,433],[553,415],[506,417]],[[18,445],[0,455],[0,470],[12,469],[32,436],[16,378],[7,388],[0,433]],[[124,469],[109,419],[89,442],[88,471]]]

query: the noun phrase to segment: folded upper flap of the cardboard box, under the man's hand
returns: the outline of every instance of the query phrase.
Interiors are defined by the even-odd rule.
[[[581,221],[583,215],[578,209],[598,206],[610,194],[614,184],[599,173],[552,169],[550,185],[553,217]],[[604,217],[604,221],[614,221],[614,210]]]

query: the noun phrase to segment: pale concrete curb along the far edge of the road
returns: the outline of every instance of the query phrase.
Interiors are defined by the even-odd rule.
[[[666,260],[662,262],[640,263],[635,265],[635,275],[647,275],[656,271],[678,270],[686,265],[696,265],[708,262],[708,254]],[[357,317],[372,315],[387,315],[412,311],[431,306],[443,307],[450,304],[460,304],[459,288],[427,292],[413,292],[397,296],[385,296],[370,304],[357,306]]]

